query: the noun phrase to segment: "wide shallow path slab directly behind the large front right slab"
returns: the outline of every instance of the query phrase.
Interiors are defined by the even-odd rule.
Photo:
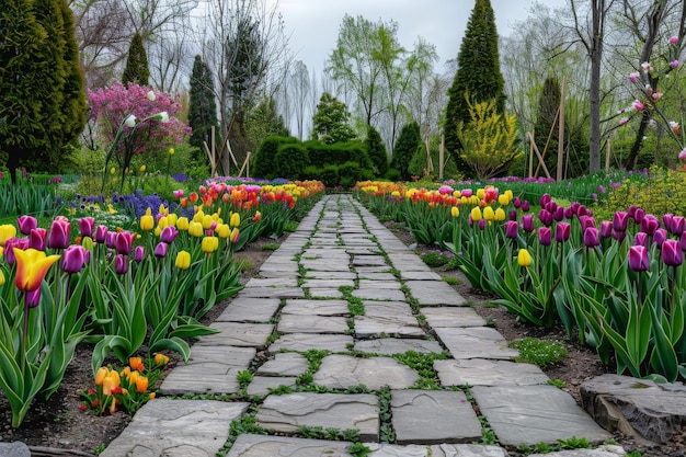
[[[548,376],[536,365],[508,361],[435,361],[434,369],[443,386],[535,386],[548,382]]]

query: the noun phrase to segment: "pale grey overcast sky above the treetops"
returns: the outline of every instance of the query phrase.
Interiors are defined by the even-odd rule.
[[[491,0],[498,33],[510,36],[516,21],[525,20],[531,0]],[[545,0],[550,7],[562,7],[565,0]],[[412,49],[418,36],[436,46],[442,72],[446,60],[457,57],[475,0],[279,0],[289,47],[296,59],[321,73],[324,60],[336,45],[343,16],[362,15],[398,23],[398,41]]]

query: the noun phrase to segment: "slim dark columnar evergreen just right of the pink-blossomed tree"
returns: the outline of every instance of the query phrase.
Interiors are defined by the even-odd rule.
[[[215,139],[219,138],[219,123],[217,121],[217,101],[211,73],[201,56],[195,56],[191,75],[191,92],[188,102],[188,126],[193,136],[188,140],[196,147],[194,158],[205,157],[203,142],[211,145],[211,127],[215,127]]]

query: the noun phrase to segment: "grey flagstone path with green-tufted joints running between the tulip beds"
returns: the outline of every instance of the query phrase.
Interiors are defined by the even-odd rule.
[[[319,202],[213,327],[102,456],[213,456],[241,420],[267,434],[232,436],[230,457],[352,455],[350,441],[291,437],[302,427],[338,430],[371,457],[611,437],[539,368],[512,362],[503,336],[346,195]],[[172,397],[183,393],[221,396]],[[479,444],[493,435],[500,446]]]

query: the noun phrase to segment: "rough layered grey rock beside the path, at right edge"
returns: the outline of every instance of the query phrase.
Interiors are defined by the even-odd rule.
[[[581,404],[604,429],[666,443],[686,424],[686,387],[603,375],[581,385]]]

